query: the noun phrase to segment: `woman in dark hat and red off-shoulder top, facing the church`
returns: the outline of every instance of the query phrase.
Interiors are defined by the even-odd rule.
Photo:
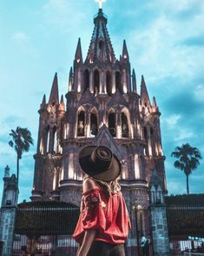
[[[77,256],[124,256],[130,222],[121,186],[122,166],[104,146],[87,146],[79,154],[86,173],[81,213],[73,237],[80,244]]]

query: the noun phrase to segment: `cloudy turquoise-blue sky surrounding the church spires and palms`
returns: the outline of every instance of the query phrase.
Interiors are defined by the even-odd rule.
[[[85,57],[97,13],[95,0],[10,0],[0,2],[0,197],[3,172],[16,172],[8,145],[10,129],[28,127],[35,145],[20,163],[19,201],[30,198],[38,109],[55,72],[59,91],[68,91],[69,68],[78,37]],[[184,174],[170,153],[189,143],[204,157],[204,1],[107,0],[103,11],[116,57],[126,39],[137,87],[143,74],[150,98],[161,111],[168,193],[186,192]],[[190,192],[204,192],[204,160],[190,176]]]

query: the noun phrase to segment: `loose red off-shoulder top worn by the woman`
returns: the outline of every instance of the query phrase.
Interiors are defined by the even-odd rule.
[[[109,244],[124,244],[128,238],[130,221],[122,192],[111,194],[93,188],[82,195],[81,213],[73,234],[82,244],[86,230],[96,229],[95,240]]]

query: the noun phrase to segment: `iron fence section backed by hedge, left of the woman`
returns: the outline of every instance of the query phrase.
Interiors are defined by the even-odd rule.
[[[74,256],[72,238],[79,208],[63,202],[30,202],[18,205],[12,256]]]

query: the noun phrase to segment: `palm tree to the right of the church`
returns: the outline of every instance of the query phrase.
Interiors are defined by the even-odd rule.
[[[187,176],[187,193],[189,194],[188,176],[200,165],[201,152],[187,143],[177,146],[171,156],[178,158],[174,161],[174,167],[184,171]]]

